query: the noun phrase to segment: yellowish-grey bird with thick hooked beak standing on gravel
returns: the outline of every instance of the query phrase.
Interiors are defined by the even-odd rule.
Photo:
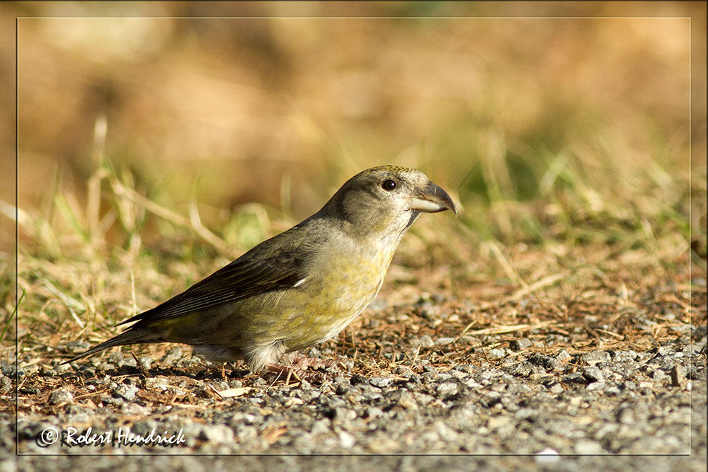
[[[184,343],[253,372],[336,336],[376,297],[401,236],[421,212],[457,209],[416,169],[379,166],[346,181],[324,207],[209,277],[116,326],[108,347]]]

